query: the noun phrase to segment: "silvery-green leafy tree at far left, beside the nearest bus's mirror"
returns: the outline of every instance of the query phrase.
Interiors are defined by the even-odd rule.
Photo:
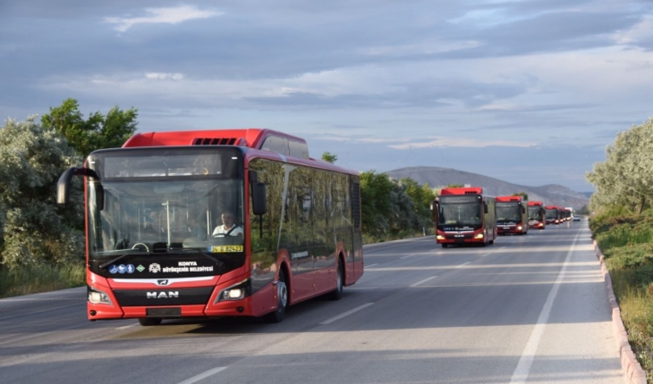
[[[82,204],[59,207],[59,176],[81,158],[36,117],[0,128],[0,262],[8,269],[84,259]],[[71,199],[82,200],[81,188]]]

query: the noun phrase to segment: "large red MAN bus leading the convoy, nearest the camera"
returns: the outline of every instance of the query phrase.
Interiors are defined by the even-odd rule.
[[[84,176],[90,320],[278,322],[288,305],[340,299],[363,273],[358,173],[310,158],[301,138],[135,134],[65,171],[58,203],[73,175]],[[236,226],[223,227],[229,216]]]

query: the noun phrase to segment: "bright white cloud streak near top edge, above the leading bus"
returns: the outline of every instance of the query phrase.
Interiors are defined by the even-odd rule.
[[[125,18],[104,18],[107,23],[116,24],[116,29],[125,32],[136,24],[142,23],[168,23],[176,24],[195,19],[206,19],[220,16],[223,12],[215,10],[200,10],[190,5],[171,8],[146,8],[147,16],[125,17]]]

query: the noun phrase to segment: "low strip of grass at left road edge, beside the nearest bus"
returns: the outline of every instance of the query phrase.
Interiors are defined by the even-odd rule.
[[[59,267],[39,265],[0,270],[0,297],[13,297],[83,286],[84,265]]]

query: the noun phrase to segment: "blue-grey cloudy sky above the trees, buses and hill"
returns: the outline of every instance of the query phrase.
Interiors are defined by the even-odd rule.
[[[377,173],[594,188],[653,117],[651,0],[0,0],[0,118],[270,128]]]

